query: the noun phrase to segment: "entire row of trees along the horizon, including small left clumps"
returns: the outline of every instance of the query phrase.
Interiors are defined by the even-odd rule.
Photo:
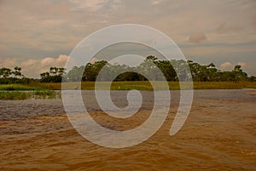
[[[191,75],[187,75],[188,64]],[[102,70],[104,66],[104,70]],[[139,66],[126,66],[119,64],[109,64],[106,60],[96,61],[86,66],[74,66],[72,70],[66,72],[65,68],[50,67],[49,71],[41,73],[40,79],[28,78],[22,75],[22,69],[15,66],[14,70],[9,68],[0,68],[0,83],[61,83],[78,81],[96,81],[96,77],[102,70],[98,81],[111,81],[111,75],[120,73],[113,81],[146,81],[147,78],[138,74],[145,73],[150,76],[150,80],[162,80],[157,72],[157,68],[163,73],[167,81],[186,81],[190,77],[195,82],[256,82],[256,77],[247,77],[247,73],[242,71],[241,66],[236,65],[232,71],[220,71],[213,63],[209,65],[200,65],[192,60],[158,60],[155,56],[148,56]],[[178,73],[176,73],[176,70]],[[180,80],[178,80],[178,78]]]

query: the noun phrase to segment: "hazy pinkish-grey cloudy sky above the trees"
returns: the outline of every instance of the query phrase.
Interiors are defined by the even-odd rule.
[[[172,38],[186,59],[256,76],[254,0],[0,0],[0,67],[39,77],[107,26],[139,24]]]

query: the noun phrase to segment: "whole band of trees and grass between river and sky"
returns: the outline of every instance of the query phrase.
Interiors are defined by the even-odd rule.
[[[191,75],[188,75],[188,67]],[[192,60],[158,60],[154,56],[148,56],[139,66],[125,66],[114,64],[111,65],[108,61],[96,61],[86,66],[74,66],[72,70],[66,73],[65,68],[50,67],[49,71],[40,74],[40,79],[24,77],[21,73],[22,69],[15,66],[13,70],[9,68],[0,68],[0,91],[1,98],[6,99],[27,99],[41,96],[43,98],[53,97],[54,93],[50,90],[61,90],[61,81],[70,84],[69,88],[77,88],[77,83],[82,81],[80,88],[94,89],[95,81],[102,83],[101,88],[107,89],[107,84],[114,77],[111,89],[153,89],[150,81],[163,81],[157,70],[160,70],[169,83],[170,89],[179,89],[179,83],[189,80],[191,77],[194,80],[195,89],[208,88],[256,88],[256,77],[247,77],[241,66],[235,66],[232,71],[220,71],[214,64],[200,65]],[[98,74],[101,71],[101,76]],[[117,74],[122,72],[122,74]],[[138,74],[142,73],[142,74]],[[149,76],[144,77],[144,76]],[[160,86],[159,86],[160,88]],[[13,92],[6,92],[6,91]],[[32,91],[31,94],[19,92],[23,90]]]

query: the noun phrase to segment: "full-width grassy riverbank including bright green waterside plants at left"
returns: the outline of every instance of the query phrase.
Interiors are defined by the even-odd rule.
[[[163,83],[155,82],[156,89],[162,89]],[[184,87],[186,88],[184,83]],[[256,88],[256,83],[241,82],[194,82],[194,89],[241,89],[241,88]],[[89,89],[95,88],[94,82],[82,82],[78,87],[78,83],[65,83],[69,89]],[[179,89],[178,82],[168,82],[169,88],[172,90]],[[100,89],[108,89],[108,82],[102,82]],[[149,82],[113,82],[111,83],[112,90],[153,90]],[[28,85],[23,84],[0,84],[0,100],[26,100],[26,99],[54,99],[61,97],[61,83],[33,83]]]

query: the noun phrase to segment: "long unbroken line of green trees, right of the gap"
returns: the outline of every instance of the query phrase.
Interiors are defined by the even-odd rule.
[[[104,70],[102,70],[104,66]],[[191,75],[188,75],[188,68]],[[113,81],[145,81],[146,77],[138,74],[137,71],[150,76],[150,80],[161,80],[157,72],[157,68],[163,73],[166,81],[186,81],[193,78],[195,82],[255,82],[256,77],[247,77],[247,73],[242,71],[241,66],[236,65],[232,71],[220,71],[211,63],[209,65],[201,65],[192,60],[158,60],[155,56],[148,56],[139,66],[126,66],[119,64],[109,64],[108,61],[96,61],[94,64],[88,63],[86,66],[74,66],[71,71],[65,75],[66,81],[96,81],[100,71],[101,77],[98,81],[111,81],[110,76],[115,72],[123,72],[115,77]],[[177,72],[176,72],[177,71]],[[180,80],[178,80],[180,79]]]

